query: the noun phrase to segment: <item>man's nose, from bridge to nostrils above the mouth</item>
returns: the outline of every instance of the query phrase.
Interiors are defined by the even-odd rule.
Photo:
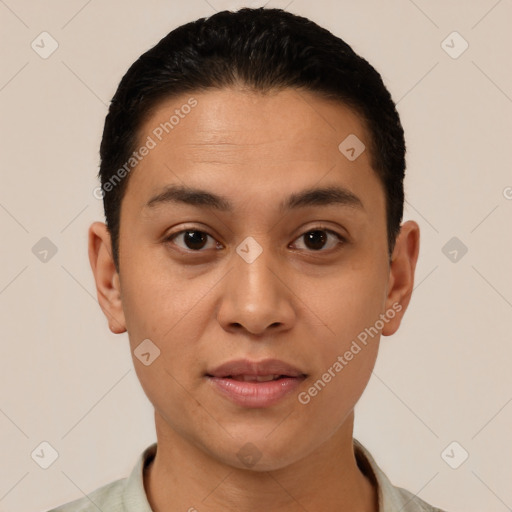
[[[224,280],[217,312],[225,330],[265,335],[293,325],[295,294],[286,282],[286,270],[271,253],[263,249],[253,261],[233,253],[233,267]]]

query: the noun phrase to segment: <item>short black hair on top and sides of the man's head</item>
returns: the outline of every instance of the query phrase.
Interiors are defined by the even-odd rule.
[[[244,8],[172,30],[142,54],[119,83],[105,119],[99,171],[117,270],[126,162],[136,149],[141,125],[164,100],[231,86],[262,93],[310,91],[360,116],[370,136],[371,165],[385,192],[391,255],[403,215],[405,141],[380,74],[346,42],[307,18],[282,9]],[[125,172],[120,173],[123,165]]]

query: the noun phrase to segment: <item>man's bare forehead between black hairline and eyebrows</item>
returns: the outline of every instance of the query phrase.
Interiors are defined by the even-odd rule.
[[[125,197],[138,208],[169,184],[208,187],[239,204],[257,192],[278,200],[314,184],[342,183],[349,191],[376,185],[369,151],[349,160],[340,150],[347,137],[369,147],[356,112],[314,93],[284,89],[259,93],[214,89],[162,101],[138,134],[151,140],[128,182]],[[352,139],[351,139],[352,140]],[[366,183],[368,185],[368,183]]]

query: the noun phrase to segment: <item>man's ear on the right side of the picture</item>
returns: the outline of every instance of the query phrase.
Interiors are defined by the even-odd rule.
[[[404,222],[400,228],[391,256],[386,317],[389,321],[382,329],[384,336],[394,334],[411,300],[414,287],[414,270],[420,249],[420,228],[416,222]],[[391,316],[393,314],[393,316]]]

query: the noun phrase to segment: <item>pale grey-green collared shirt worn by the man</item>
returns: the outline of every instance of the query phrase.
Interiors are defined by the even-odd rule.
[[[361,471],[377,487],[379,512],[444,512],[409,491],[395,487],[379,468],[370,452],[354,439],[354,453]],[[148,446],[127,478],[111,482],[83,498],[48,512],[153,512],[144,489],[143,471],[155,457],[157,443]]]

